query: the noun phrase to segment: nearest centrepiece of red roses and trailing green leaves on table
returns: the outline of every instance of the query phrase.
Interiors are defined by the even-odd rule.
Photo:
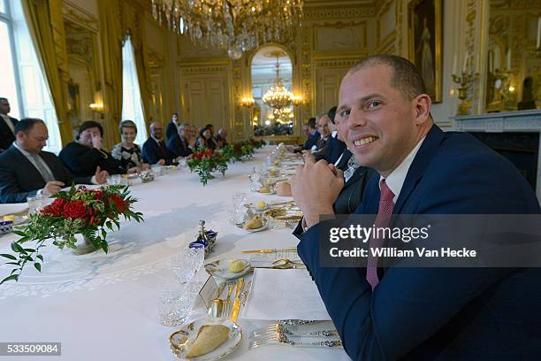
[[[0,254],[10,260],[6,265],[15,265],[11,274],[0,281],[19,280],[19,275],[28,262],[42,271],[43,256],[40,249],[48,239],[59,249],[77,249],[75,234],[83,234],[95,250],[108,251],[105,241],[107,230],[120,229],[119,219],[134,219],[140,222],[142,213],[133,211],[137,199],[129,195],[128,186],[113,185],[95,190],[84,186],[69,191],[60,191],[52,196],[55,200],[41,211],[30,216],[26,227],[16,229],[14,234],[21,238],[11,243],[15,255]],[[35,241],[35,248],[24,248],[22,243]]]

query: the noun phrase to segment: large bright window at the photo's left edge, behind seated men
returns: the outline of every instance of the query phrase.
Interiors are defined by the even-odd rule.
[[[10,115],[14,118],[43,119],[49,129],[45,150],[58,153],[62,149],[57,113],[50,89],[43,78],[34,44],[22,10],[20,0],[0,0],[0,51],[9,56],[0,57],[1,95],[9,99]]]

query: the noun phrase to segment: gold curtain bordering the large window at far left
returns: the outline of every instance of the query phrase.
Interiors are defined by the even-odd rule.
[[[62,143],[72,142],[72,127],[66,112],[68,78],[62,1],[21,0],[21,4],[44,78],[50,88]]]

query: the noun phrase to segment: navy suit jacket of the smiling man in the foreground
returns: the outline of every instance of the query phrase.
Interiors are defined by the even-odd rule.
[[[377,213],[378,180],[356,213]],[[433,126],[393,213],[539,213],[539,204],[505,158]],[[354,360],[539,359],[541,268],[388,268],[372,292],[365,269],[320,266],[320,227],[298,252]]]

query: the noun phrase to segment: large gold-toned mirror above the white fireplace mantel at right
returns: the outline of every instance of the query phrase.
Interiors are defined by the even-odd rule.
[[[541,107],[541,5],[491,0],[485,111]]]

